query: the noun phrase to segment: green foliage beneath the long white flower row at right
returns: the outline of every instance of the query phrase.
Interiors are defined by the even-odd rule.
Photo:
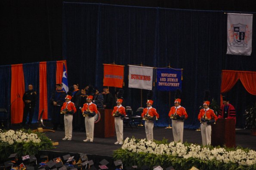
[[[136,139],[136,143],[139,142],[139,139]],[[157,141],[154,140],[157,144],[169,144],[167,143],[167,139]],[[185,146],[191,146],[191,143],[183,143]],[[221,148],[213,147],[213,146],[201,146],[201,148],[207,147],[210,150],[213,148]],[[248,152],[249,149],[244,149],[241,147],[236,148],[227,148],[224,147],[227,151],[235,151],[237,149],[244,150],[245,152]],[[189,170],[191,167],[196,167],[200,170],[255,170],[256,164],[251,166],[242,166],[238,165],[236,163],[229,162],[228,164],[225,164],[221,161],[217,161],[216,159],[213,159],[211,161],[204,161],[199,158],[180,158],[178,156],[173,155],[156,155],[156,154],[148,154],[144,152],[130,152],[127,149],[117,149],[114,151],[114,159],[120,159],[123,161],[124,166],[132,166],[132,165],[138,165],[138,167],[142,167],[142,165],[148,165],[150,168],[152,168],[155,165],[160,165],[163,168],[167,168],[170,166],[173,166],[174,169],[177,170]]]

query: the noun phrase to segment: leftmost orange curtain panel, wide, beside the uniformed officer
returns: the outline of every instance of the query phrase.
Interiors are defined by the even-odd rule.
[[[11,83],[11,123],[21,123],[23,118],[24,103],[22,101],[25,93],[25,82],[23,74],[23,65],[12,65],[12,83]],[[20,96],[20,97],[18,97]],[[18,97],[18,98],[17,98]]]

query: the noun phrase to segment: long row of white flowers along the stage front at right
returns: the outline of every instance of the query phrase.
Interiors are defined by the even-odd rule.
[[[180,158],[197,158],[204,161],[216,161],[227,163],[234,163],[243,166],[250,166],[256,164],[256,151],[249,150],[245,152],[242,149],[234,151],[227,151],[225,148],[201,147],[200,145],[190,144],[185,146],[183,143],[171,142],[168,144],[156,144],[145,139],[136,142],[136,139],[127,137],[124,140],[122,149],[127,149],[130,152],[144,152],[156,155],[173,155]]]

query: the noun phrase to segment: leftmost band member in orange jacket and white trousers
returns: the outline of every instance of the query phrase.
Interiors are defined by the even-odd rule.
[[[73,102],[71,102],[72,97],[67,95],[65,97],[65,103],[61,108],[61,111],[64,112],[64,125],[65,125],[65,137],[62,140],[72,140],[72,121],[73,114],[77,112],[77,109]]]

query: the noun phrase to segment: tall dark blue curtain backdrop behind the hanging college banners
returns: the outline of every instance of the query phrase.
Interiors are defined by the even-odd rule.
[[[68,81],[79,83],[80,88],[91,84],[102,91],[102,64],[125,65],[124,98],[126,106],[136,111],[141,102],[146,106],[148,91],[141,94],[140,89],[128,88],[127,64],[183,68],[181,105],[188,112],[188,128],[200,126],[197,115],[204,90],[210,90],[211,98],[219,103],[221,70],[256,71],[254,41],[252,56],[226,55],[226,42],[227,14],[220,11],[63,3],[63,55]],[[115,89],[110,91],[114,93]],[[157,91],[155,86],[153,91],[153,107],[160,114],[155,125],[167,126],[175,92]],[[237,125],[243,127],[241,115],[248,103],[238,98],[239,91],[231,93],[231,103],[239,110]],[[241,97],[255,100],[246,91]]]

